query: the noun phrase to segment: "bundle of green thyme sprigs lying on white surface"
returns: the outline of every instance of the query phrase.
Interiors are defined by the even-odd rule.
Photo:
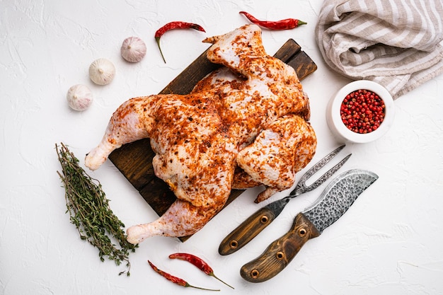
[[[67,146],[55,144],[62,173],[57,171],[62,179],[71,224],[79,231],[80,238],[88,241],[98,248],[101,261],[114,260],[116,265],[125,261],[126,273],[130,276],[130,252],[134,252],[137,245],[127,241],[127,236],[122,228],[125,224],[113,214],[108,204],[108,199],[103,192],[98,180],[91,178],[81,166],[79,159],[69,151]],[[111,240],[113,238],[120,247]]]

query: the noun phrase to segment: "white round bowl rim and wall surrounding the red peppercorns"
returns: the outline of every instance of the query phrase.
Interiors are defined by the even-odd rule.
[[[359,89],[366,89],[376,93],[382,100],[384,100],[385,105],[385,116],[383,122],[381,122],[381,125],[374,131],[365,134],[353,132],[352,130],[348,129],[340,116],[340,106],[342,105],[345,97],[353,91],[357,91]],[[379,83],[368,80],[353,81],[345,85],[335,94],[335,96],[333,96],[333,98],[330,99],[328,108],[326,110],[326,120],[328,122],[330,131],[333,132],[335,137],[338,137],[338,139],[345,142],[347,141],[359,144],[374,141],[386,134],[393,123],[393,117],[394,104],[389,91],[387,91],[386,88],[381,86]]]

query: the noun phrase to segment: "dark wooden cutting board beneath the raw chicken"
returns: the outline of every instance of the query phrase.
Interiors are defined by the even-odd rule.
[[[160,93],[168,94],[188,94],[195,84],[210,72],[218,69],[219,64],[212,64],[206,58],[206,52],[195,59],[180,75],[173,79]],[[317,66],[312,59],[303,51],[301,47],[292,39],[284,43],[274,57],[292,66],[300,80],[316,71]],[[127,180],[139,191],[146,202],[161,216],[169,206],[176,200],[176,196],[169,190],[163,180],[154,175],[152,168],[152,158],[155,154],[149,144],[149,139],[141,139],[130,144],[125,144],[113,151],[109,159],[125,175]],[[225,207],[236,197],[241,195],[243,190],[232,190]],[[188,237],[180,238],[185,241]]]

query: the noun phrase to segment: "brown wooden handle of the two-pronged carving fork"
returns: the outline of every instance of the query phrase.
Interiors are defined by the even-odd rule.
[[[231,231],[220,243],[220,255],[229,255],[249,243],[274,219],[275,213],[268,207],[262,207]]]

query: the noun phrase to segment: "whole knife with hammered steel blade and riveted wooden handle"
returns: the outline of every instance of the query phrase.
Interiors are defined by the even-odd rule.
[[[292,261],[304,243],[320,236],[324,229],[345,214],[355,199],[377,178],[375,173],[361,169],[347,170],[338,175],[311,206],[297,214],[287,233],[272,242],[258,258],[241,267],[241,277],[253,283],[275,277]]]

